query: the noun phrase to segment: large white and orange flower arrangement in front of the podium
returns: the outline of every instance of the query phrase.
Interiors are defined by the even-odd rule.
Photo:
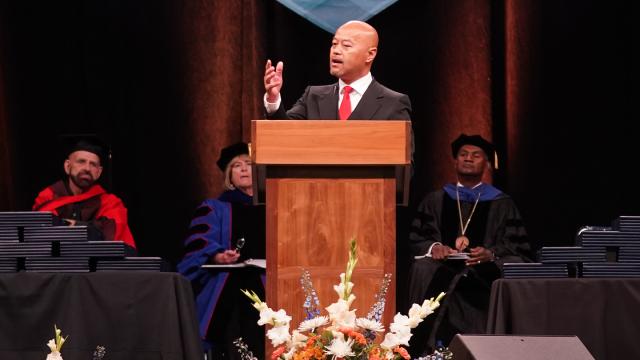
[[[338,301],[325,308],[328,316],[320,315],[317,308],[319,302],[310,284],[310,276],[308,272],[303,273],[302,284],[306,294],[304,307],[307,319],[291,333],[289,333],[291,316],[282,309],[273,311],[254,292],[243,290],[260,312],[258,325],[271,325],[271,329],[267,331],[267,337],[275,348],[271,355],[272,359],[395,360],[410,358],[403,345],[409,345],[411,329],[418,326],[425,317],[440,306],[444,293],[435,299],[425,300],[421,305],[413,304],[408,316],[396,314],[389,331],[384,335],[384,340],[376,343],[378,334],[384,332],[384,326],[380,320],[384,311],[384,295],[386,295],[390,275],[385,276],[376,296],[377,301],[371,307],[367,317],[356,317],[356,310],[350,310],[356,298],[352,293],[354,284],[351,282],[351,275],[358,262],[355,239],[351,240],[350,245],[346,271],[340,274],[340,283],[333,287],[338,294]]]

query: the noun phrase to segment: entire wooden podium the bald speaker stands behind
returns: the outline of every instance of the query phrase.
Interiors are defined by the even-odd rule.
[[[396,203],[406,204],[411,163],[407,121],[254,120],[254,199],[267,216],[266,301],[304,320],[302,269],[325,307],[356,238],[351,309],[365,317],[392,275],[384,324],[395,315]]]

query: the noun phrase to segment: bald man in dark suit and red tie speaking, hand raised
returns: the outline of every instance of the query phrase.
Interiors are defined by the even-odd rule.
[[[371,65],[378,52],[378,33],[362,21],[349,21],[336,31],[329,52],[329,72],[338,82],[309,86],[296,104],[285,111],[280,89],[280,61],[267,60],[264,105],[269,119],[410,120],[411,102],[405,94],[378,83]],[[346,95],[345,95],[346,94]]]

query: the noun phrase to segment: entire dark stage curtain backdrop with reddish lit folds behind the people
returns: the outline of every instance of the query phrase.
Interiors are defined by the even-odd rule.
[[[373,74],[413,102],[411,206],[453,180],[466,132],[496,143],[493,182],[540,243],[638,215],[637,17],[633,1],[430,0],[372,18]],[[59,134],[99,133],[141,253],[169,259],[221,189],[219,149],[261,117],[266,58],[285,62],[287,106],[334,81],[332,35],[274,0],[0,0],[0,31],[0,209],[29,209],[61,175]]]

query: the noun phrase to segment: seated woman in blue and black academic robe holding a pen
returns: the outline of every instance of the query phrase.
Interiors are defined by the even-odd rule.
[[[242,337],[258,359],[264,358],[264,329],[258,312],[240,289],[264,299],[263,269],[203,269],[204,264],[234,264],[265,258],[264,206],[252,204],[251,158],[246,143],[226,147],[217,161],[225,191],[196,209],[178,271],[192,283],[200,336],[214,359],[240,358],[233,341]]]

